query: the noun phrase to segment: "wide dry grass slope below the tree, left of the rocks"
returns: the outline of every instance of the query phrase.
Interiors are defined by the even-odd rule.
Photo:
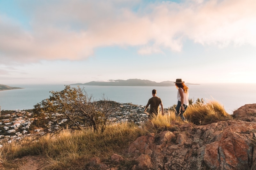
[[[53,137],[46,135],[32,143],[5,144],[0,154],[4,165],[28,155],[46,155],[47,169],[88,169],[92,157],[108,160],[113,153],[122,155],[132,141],[146,133],[146,129],[132,123],[108,126],[104,133],[62,130]]]

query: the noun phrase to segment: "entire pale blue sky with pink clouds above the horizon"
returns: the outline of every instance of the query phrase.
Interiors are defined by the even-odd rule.
[[[0,84],[256,83],[255,0],[0,0]]]

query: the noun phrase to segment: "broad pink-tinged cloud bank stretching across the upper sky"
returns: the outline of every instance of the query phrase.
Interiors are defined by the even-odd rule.
[[[181,51],[185,39],[221,48],[256,46],[256,1],[27,1],[30,29],[0,13],[3,63],[82,60],[96,48],[135,46],[139,54]],[[134,10],[137,7],[137,10]]]

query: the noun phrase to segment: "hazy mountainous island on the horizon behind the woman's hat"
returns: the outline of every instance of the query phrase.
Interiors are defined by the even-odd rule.
[[[186,85],[199,85],[192,83],[185,83]],[[99,85],[99,86],[175,86],[174,81],[163,81],[156,83],[150,80],[141,79],[128,79],[128,80],[108,80],[106,82],[102,81],[91,81],[88,83],[76,83],[71,85]]]

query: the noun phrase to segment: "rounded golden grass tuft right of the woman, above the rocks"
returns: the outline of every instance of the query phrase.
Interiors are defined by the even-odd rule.
[[[196,125],[232,119],[232,116],[225,111],[224,107],[215,100],[209,100],[205,104],[197,102],[189,105],[184,117]]]

